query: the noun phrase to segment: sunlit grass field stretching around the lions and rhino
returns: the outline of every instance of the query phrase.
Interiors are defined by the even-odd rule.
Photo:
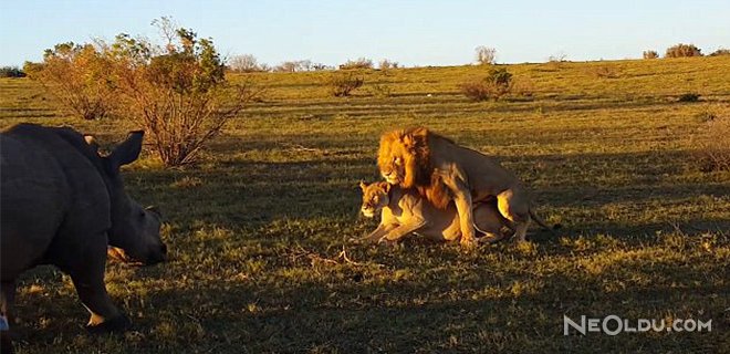
[[[728,352],[730,173],[699,170],[697,134],[730,114],[730,56],[508,70],[531,97],[467,101],[457,86],[477,66],[373,71],[347,98],[327,96],[326,73],[254,74],[263,102],[197,167],[146,154],[126,169],[131,195],[161,207],[171,252],[108,267],[134,331],[88,335],[70,279],[39,268],[19,287],[19,353]],[[67,124],[102,142],[131,127],[58,108],[31,81],[0,81],[0,127]],[[407,125],[497,156],[560,235],[469,252],[348,243],[376,226],[357,215],[357,181],[377,178],[378,135]],[[564,336],[564,314],[712,331]]]

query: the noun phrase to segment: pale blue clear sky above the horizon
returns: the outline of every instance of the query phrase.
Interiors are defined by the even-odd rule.
[[[639,58],[693,43],[730,48],[728,0],[613,1],[40,1],[0,0],[0,65],[39,61],[65,41],[119,32],[156,38],[149,22],[171,15],[221,53],[260,62],[310,59],[330,65],[387,58],[406,65],[459,65],[473,49],[498,62]]]

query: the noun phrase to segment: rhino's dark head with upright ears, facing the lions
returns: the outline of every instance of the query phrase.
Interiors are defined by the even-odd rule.
[[[109,194],[112,228],[108,231],[107,254],[124,262],[155,264],[166,258],[167,247],[159,238],[160,215],[154,208],[143,208],[124,190],[119,167],[133,163],[142,152],[144,132],[132,132],[111,154],[100,156],[103,178]],[[86,143],[96,152],[93,137]]]

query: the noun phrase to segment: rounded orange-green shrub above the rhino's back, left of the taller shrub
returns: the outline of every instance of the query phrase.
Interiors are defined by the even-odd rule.
[[[71,112],[84,119],[101,119],[115,107],[112,63],[93,44],[56,44],[45,50],[43,63],[25,63],[39,81]]]

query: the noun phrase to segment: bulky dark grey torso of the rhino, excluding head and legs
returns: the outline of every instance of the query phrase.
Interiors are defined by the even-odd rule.
[[[111,226],[97,168],[58,129],[23,124],[1,135],[3,281],[38,263],[73,259],[88,235]]]

